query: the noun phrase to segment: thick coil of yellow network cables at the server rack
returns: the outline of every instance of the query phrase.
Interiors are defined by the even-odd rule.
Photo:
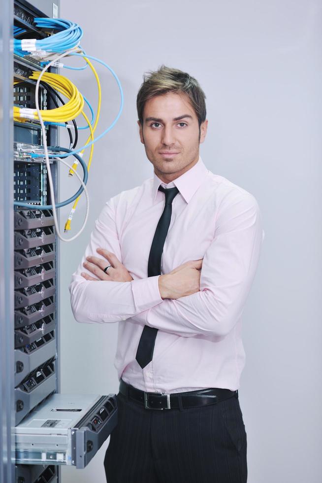
[[[29,76],[30,79],[37,80],[40,72],[34,71]],[[69,101],[54,109],[41,110],[41,116],[43,121],[49,122],[66,122],[75,119],[82,113],[84,107],[84,98],[78,91],[77,87],[66,77],[60,74],[54,74],[52,72],[45,72],[42,76],[42,80],[51,85],[58,92],[63,94],[69,99]],[[18,83],[17,81],[15,83]],[[13,117],[15,121],[21,122],[21,119],[34,119],[38,120],[38,114],[36,109],[30,109],[26,107],[13,107]]]

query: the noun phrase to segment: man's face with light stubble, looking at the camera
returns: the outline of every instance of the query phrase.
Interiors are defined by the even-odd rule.
[[[186,94],[169,92],[149,99],[144,105],[140,138],[154,171],[169,183],[190,170],[199,159],[208,121],[200,126]]]

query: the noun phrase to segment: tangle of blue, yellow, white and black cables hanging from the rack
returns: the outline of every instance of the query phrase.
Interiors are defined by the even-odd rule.
[[[62,241],[67,242],[67,241],[74,240],[79,236],[79,234],[83,231],[85,223],[87,221],[89,199],[88,199],[87,190],[85,188],[85,184],[87,182],[88,172],[91,168],[94,143],[98,139],[105,136],[118,121],[123,109],[124,97],[123,97],[123,91],[122,91],[120,81],[116,73],[114,72],[114,70],[102,60],[99,60],[96,57],[87,55],[85,51],[82,49],[82,47],[80,46],[80,39],[83,35],[83,31],[76,23],[70,22],[64,19],[38,17],[34,19],[34,25],[39,29],[39,31],[41,30],[43,34],[45,35],[48,34],[48,36],[46,38],[41,38],[41,39],[14,38],[14,51],[15,51],[15,54],[20,55],[22,57],[28,55],[29,58],[32,57],[33,60],[37,60],[40,63],[40,66],[42,68],[41,71],[35,70],[34,72],[32,72],[32,75],[29,76],[31,80],[36,81],[36,86],[35,86],[36,109],[20,107],[15,105],[14,120],[18,122],[27,122],[29,119],[32,119],[32,120],[39,121],[40,123],[44,152],[43,154],[40,154],[39,152],[31,152],[30,156],[31,156],[31,159],[40,160],[39,158],[43,158],[46,163],[48,185],[50,189],[51,203],[52,203],[52,205],[50,206],[53,209],[56,233],[58,238],[60,238]],[[56,33],[53,34],[53,31],[56,31]],[[14,33],[15,33],[15,36],[20,36],[21,34],[23,34],[23,31],[15,29]],[[82,57],[86,63],[85,67],[76,68],[71,66],[65,66],[61,61],[63,60],[64,57],[69,57],[69,56]],[[94,138],[94,133],[96,131],[97,123],[100,115],[101,87],[100,87],[100,81],[99,81],[96,69],[94,68],[90,59],[103,65],[106,69],[108,69],[112,73],[112,75],[114,76],[118,84],[118,87],[120,90],[120,96],[121,96],[120,108],[114,121],[96,138]],[[75,69],[75,70],[82,70],[86,67],[89,67],[93,71],[97,82],[97,91],[98,91],[96,116],[94,115],[94,111],[91,104],[87,101],[87,99],[84,96],[80,94],[76,86],[64,76],[60,74],[48,72],[47,69],[49,69],[50,67],[58,67],[58,68],[64,67],[66,69]],[[19,80],[16,80],[15,83],[18,83],[18,82],[23,82],[23,81],[19,79]],[[47,94],[51,97],[53,104],[56,106],[55,108],[43,109],[43,110],[39,108],[40,99],[38,97],[38,94],[40,94],[39,93],[40,86],[47,91]],[[68,99],[68,102],[64,103],[64,101],[62,100],[62,98],[60,98],[58,93],[63,94]],[[57,96],[57,99],[61,102],[62,105],[58,106],[58,103],[55,100],[55,95]],[[89,121],[88,117],[83,111],[84,101],[86,102],[86,104],[88,104],[91,110],[91,113],[92,113],[91,122]],[[77,126],[75,118],[79,114],[83,115],[87,126],[82,126],[82,127]],[[70,124],[69,121],[72,121],[73,124]],[[57,150],[57,152],[55,152],[56,150],[53,150],[53,148],[51,148],[51,152],[48,153],[47,139],[46,139],[46,132],[45,132],[45,125],[48,125],[48,124],[61,125],[67,128],[68,134],[69,134],[70,146],[69,146],[69,149],[64,152],[64,154],[60,153],[59,149]],[[73,143],[72,143],[72,134],[70,131],[71,129],[75,130]],[[85,144],[82,147],[76,149],[77,138],[78,138],[77,131],[79,129],[89,129],[90,135],[87,138]],[[83,160],[83,154],[84,154],[85,148],[87,147],[91,147],[91,149],[90,149],[89,160],[86,166]],[[72,148],[72,150],[70,150],[70,148]],[[63,148],[60,148],[60,150],[64,151]],[[74,162],[72,166],[67,165],[67,163],[64,161],[64,158],[66,157],[67,152],[69,156],[74,155]],[[77,155],[77,153],[79,153],[79,156]],[[69,172],[68,172],[69,176],[76,174],[77,178],[80,179],[80,182],[82,184],[82,186],[80,187],[78,192],[75,193],[75,195],[73,195],[68,200],[65,200],[64,202],[58,203],[57,205],[55,201],[55,192],[54,192],[55,190],[54,190],[54,185],[53,185],[53,180],[52,180],[51,170],[49,165],[50,159],[55,159],[57,161],[61,160],[64,165],[67,165],[69,167]],[[82,180],[79,174],[77,173],[78,163],[81,163],[83,170],[86,167],[86,180],[85,179]],[[69,239],[65,239],[62,237],[60,233],[60,229],[58,226],[58,219],[56,215],[56,208],[66,206],[72,201],[74,202],[64,226],[64,231],[65,232],[69,231],[70,223],[83,189],[85,191],[85,195],[87,199],[87,211],[86,211],[84,223],[80,231],[75,236]],[[28,204],[28,203],[16,202],[15,206],[30,207],[32,209],[31,204]]]

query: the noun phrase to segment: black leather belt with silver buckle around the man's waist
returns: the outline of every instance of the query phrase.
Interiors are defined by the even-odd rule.
[[[129,399],[141,403],[146,409],[181,409],[197,408],[217,404],[233,396],[238,398],[238,390],[230,391],[209,387],[197,391],[177,392],[172,394],[145,392],[131,386],[123,379],[120,381],[120,393]]]

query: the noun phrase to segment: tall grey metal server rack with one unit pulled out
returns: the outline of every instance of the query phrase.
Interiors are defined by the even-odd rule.
[[[51,204],[44,159],[26,155],[43,144],[40,123],[13,122],[13,103],[35,107],[29,75],[41,70],[31,57],[13,53],[13,25],[41,38],[45,34],[32,25],[34,17],[59,17],[59,6],[58,0],[0,0],[1,483],[60,482],[59,465],[84,468],[117,423],[115,394],[59,394],[59,243],[53,214],[13,206]],[[44,87],[39,92],[40,109],[55,107]],[[58,128],[46,130],[48,145],[58,146]],[[50,166],[57,199],[58,162]]]

